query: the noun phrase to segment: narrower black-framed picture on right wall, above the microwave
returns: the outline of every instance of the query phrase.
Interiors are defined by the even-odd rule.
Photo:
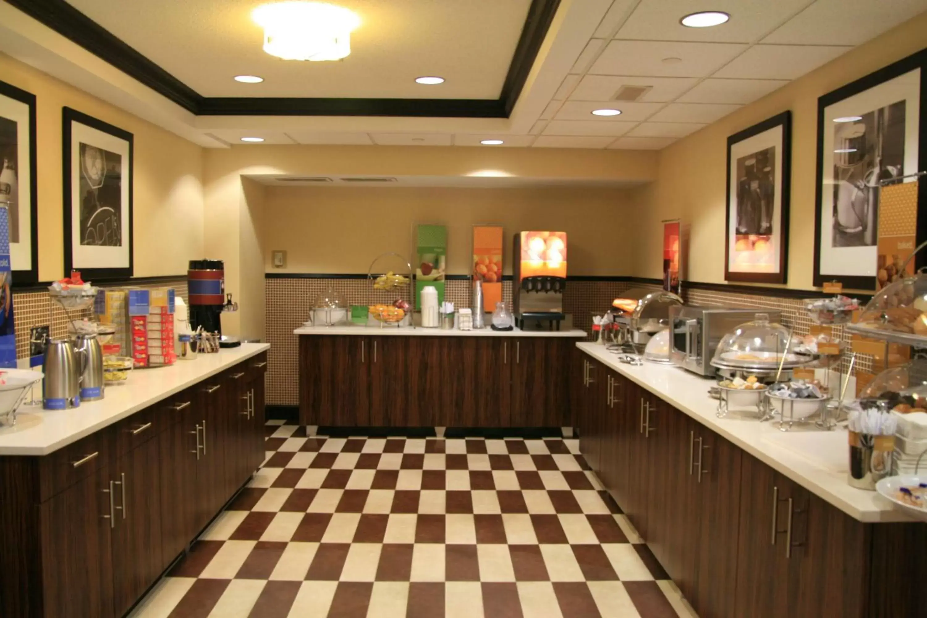
[[[791,112],[728,138],[726,281],[785,283],[791,160]]]

